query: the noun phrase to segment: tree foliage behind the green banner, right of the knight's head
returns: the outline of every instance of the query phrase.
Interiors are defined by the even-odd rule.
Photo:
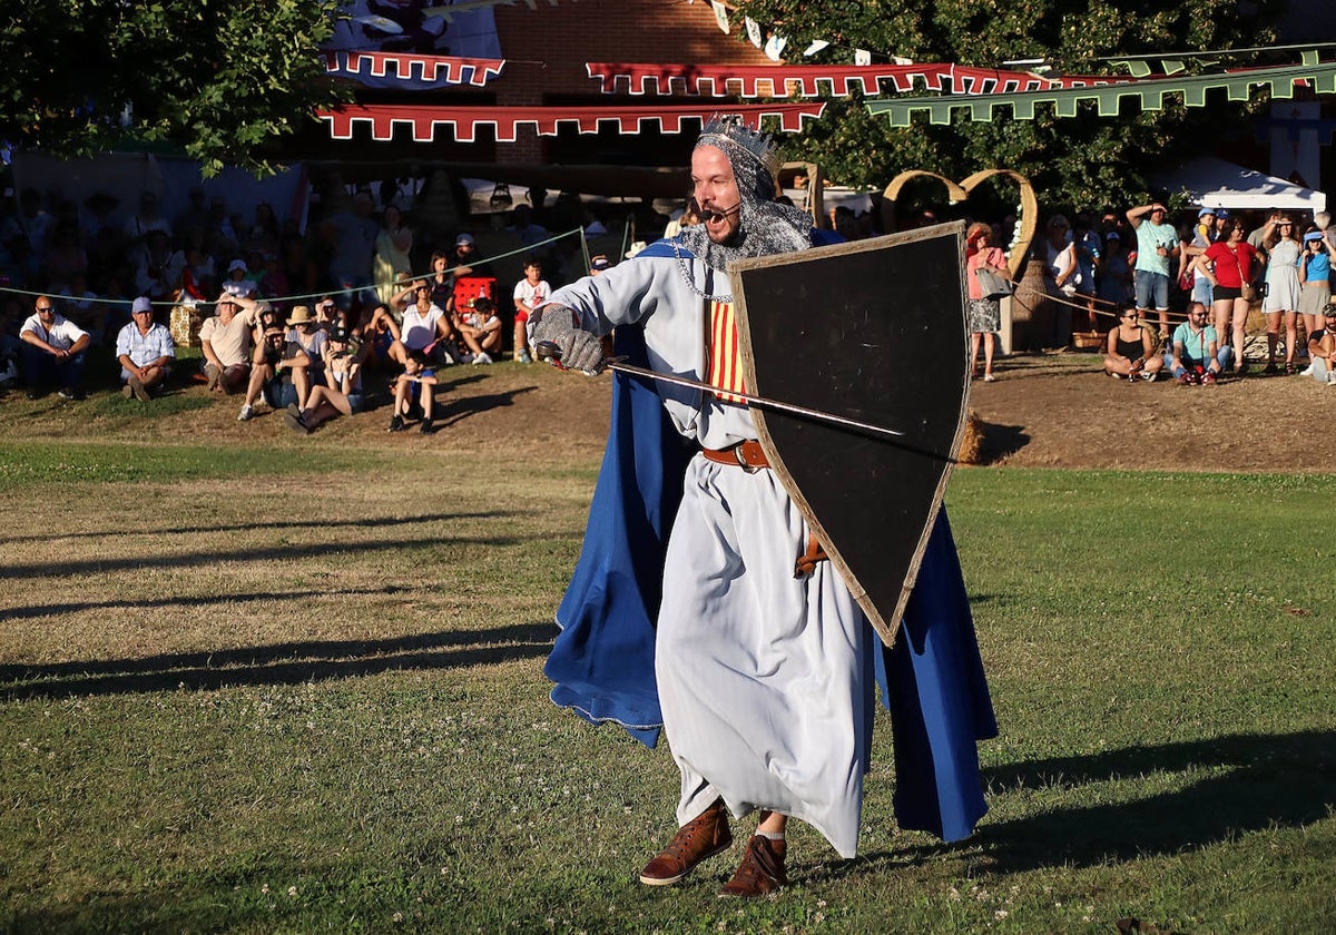
[[[792,56],[812,40],[831,43],[802,61],[847,64],[852,49],[862,48],[880,61],[902,56],[1003,68],[1005,61],[1042,59],[1058,72],[1114,73],[1101,57],[1265,45],[1275,40],[1284,7],[1284,0],[1255,0],[1230,4],[1226,13],[1206,0],[748,0],[741,12],[787,36]],[[1145,196],[1149,171],[1170,155],[1190,155],[1192,140],[1241,132],[1257,106],[1222,95],[1210,103],[1160,112],[1126,104],[1117,118],[1101,118],[1089,106],[1069,119],[1041,107],[1034,120],[1003,116],[1002,108],[991,123],[962,118],[951,126],[922,120],[891,128],[868,115],[860,99],[835,99],[822,120],[787,139],[786,155],[816,162],[847,184],[886,184],[910,168],[962,179],[1001,167],[1029,176],[1050,206],[1129,204]]]

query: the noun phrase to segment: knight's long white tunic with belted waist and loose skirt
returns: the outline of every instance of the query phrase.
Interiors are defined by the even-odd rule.
[[[727,276],[695,260],[636,256],[557,290],[600,334],[640,322],[651,367],[701,379],[704,293]],[[657,383],[688,438],[725,447],[756,437],[744,406]],[[735,816],[768,808],[858,850],[867,764],[870,632],[830,562],[807,580],[794,562],[807,524],[770,470],[692,459],[668,542],[655,672],[664,731],[681,772],[677,819],[717,796]]]

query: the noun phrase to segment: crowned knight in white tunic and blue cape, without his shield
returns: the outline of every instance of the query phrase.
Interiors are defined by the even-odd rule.
[[[619,354],[717,387],[616,377],[608,453],[546,672],[558,704],[651,745],[661,715],[681,773],[680,828],[641,882],[679,882],[731,847],[729,815],[759,811],[723,891],[748,896],[787,882],[790,816],[855,855],[878,681],[895,719],[902,827],[970,833],[986,811],[975,741],[997,732],[945,516],[891,650],[830,562],[794,574],[810,529],[729,395],[745,387],[728,263],[822,236],[772,200],[775,168],[768,138],[716,118],[692,154],[701,223],[558,290],[530,319],[534,342],[556,345],[568,369],[603,369],[599,335],[616,327]]]

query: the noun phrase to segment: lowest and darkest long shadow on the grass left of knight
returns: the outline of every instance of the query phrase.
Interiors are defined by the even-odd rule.
[[[212,691],[353,679],[402,669],[462,668],[538,659],[552,649],[554,637],[556,624],[516,624],[390,640],[278,642],[144,659],[3,665],[0,695],[7,700],[28,700],[179,688]]]

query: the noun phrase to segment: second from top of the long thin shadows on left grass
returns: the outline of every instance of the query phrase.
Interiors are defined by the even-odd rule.
[[[536,536],[546,541],[550,536]],[[43,578],[65,574],[106,574],[108,572],[128,572],[156,565],[172,568],[195,568],[218,562],[254,561],[297,561],[346,554],[357,550],[359,554],[374,552],[398,552],[401,549],[438,549],[446,545],[520,545],[524,538],[514,536],[430,536],[424,538],[399,538],[386,542],[313,542],[310,545],[281,545],[269,549],[216,549],[210,552],[186,552],[172,556],[119,556],[116,558],[87,558],[80,561],[47,561],[28,565],[0,565],[0,578]]]

